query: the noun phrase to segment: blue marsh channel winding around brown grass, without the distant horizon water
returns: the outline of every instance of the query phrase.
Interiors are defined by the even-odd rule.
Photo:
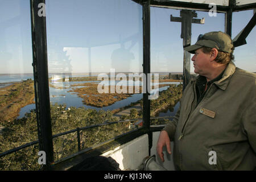
[[[89,106],[85,105],[82,102],[82,98],[77,96],[77,93],[72,92],[72,89],[75,88],[82,88],[84,86],[71,86],[74,84],[83,84],[86,82],[91,82],[93,84],[99,84],[100,81],[72,81],[72,82],[50,82],[52,86],[49,87],[49,95],[50,95],[50,102],[52,105],[54,104],[61,104],[61,105],[66,105],[65,109],[68,109],[68,107],[85,107],[85,109],[95,109],[95,110],[114,110],[118,109],[121,107],[125,107],[130,105],[132,102],[137,102],[142,99],[143,94],[138,93],[138,94],[132,94],[131,97],[127,97],[121,101],[117,101],[112,105],[105,106],[105,107],[94,107],[94,106]],[[102,82],[101,82],[102,83]],[[117,82],[115,82],[117,84]],[[159,85],[162,84],[179,84],[179,82],[159,82]],[[108,84],[105,84],[108,85]],[[141,83],[139,84],[141,85]],[[128,86],[128,84],[127,84]],[[159,88],[159,92],[162,90],[168,89],[169,86],[163,86],[162,88]],[[89,97],[89,96],[88,96]],[[172,116],[176,113],[177,109],[179,107],[179,102],[176,104],[174,107],[173,111],[167,110],[166,113],[159,113],[159,117],[163,116]],[[25,113],[30,112],[31,109],[35,109],[35,104],[30,104],[27,106],[24,106],[20,109],[19,116],[18,118],[24,117]]]

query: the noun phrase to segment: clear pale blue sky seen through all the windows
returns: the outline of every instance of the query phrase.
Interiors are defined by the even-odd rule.
[[[192,25],[192,44],[199,34],[224,31],[224,14],[196,11],[205,24]],[[46,0],[49,72],[142,71],[142,7],[130,0]],[[170,22],[180,10],[151,7],[151,71],[182,72],[181,23]],[[253,11],[233,13],[233,38]],[[237,67],[256,72],[256,30],[237,47]],[[32,73],[29,0],[0,1],[0,73]],[[191,72],[193,67],[191,66]]]

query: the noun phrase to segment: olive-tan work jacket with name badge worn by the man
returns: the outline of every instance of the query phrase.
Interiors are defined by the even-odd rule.
[[[191,81],[176,117],[163,129],[174,141],[177,169],[255,169],[255,81],[256,74],[230,62],[221,80],[210,85],[197,106],[196,80]]]

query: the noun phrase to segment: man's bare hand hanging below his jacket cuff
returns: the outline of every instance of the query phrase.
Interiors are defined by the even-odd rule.
[[[170,138],[169,138],[167,132],[164,130],[161,131],[161,133],[159,135],[158,145],[156,148],[158,155],[159,155],[160,159],[162,160],[162,162],[164,162],[163,146],[166,146],[168,153],[171,154]]]

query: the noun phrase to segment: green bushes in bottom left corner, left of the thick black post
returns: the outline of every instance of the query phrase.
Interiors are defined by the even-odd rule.
[[[38,140],[36,113],[26,113],[21,119],[3,123],[5,130],[0,134],[0,152]],[[38,170],[38,144],[24,148],[0,159],[0,170]]]

